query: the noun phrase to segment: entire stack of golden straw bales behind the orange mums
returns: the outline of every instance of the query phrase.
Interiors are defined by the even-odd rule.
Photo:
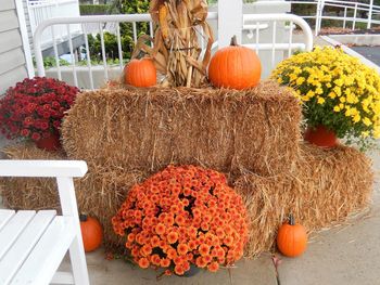
[[[4,150],[11,159],[84,159],[75,180],[79,210],[104,226],[107,248],[123,247],[111,218],[135,184],[168,164],[225,172],[250,216],[245,256],[274,246],[292,212],[312,232],[365,208],[372,190],[369,159],[346,146],[300,143],[301,109],[284,89],[263,82],[248,91],[104,89],[81,94],[63,124],[63,153],[34,144]],[[49,179],[3,179],[5,203],[20,209],[56,208]]]

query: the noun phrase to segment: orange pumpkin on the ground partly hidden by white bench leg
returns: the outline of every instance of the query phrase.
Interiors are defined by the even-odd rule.
[[[103,241],[103,230],[100,222],[87,215],[80,215],[79,220],[85,251],[96,250]]]

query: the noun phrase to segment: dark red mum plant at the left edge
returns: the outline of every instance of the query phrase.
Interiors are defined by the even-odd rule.
[[[0,100],[1,132],[8,139],[34,141],[58,132],[78,92],[78,88],[53,78],[24,79]]]

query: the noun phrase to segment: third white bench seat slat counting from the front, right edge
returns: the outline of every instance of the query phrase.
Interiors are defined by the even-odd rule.
[[[13,245],[14,241],[24,231],[36,211],[17,211],[0,232],[0,259]]]

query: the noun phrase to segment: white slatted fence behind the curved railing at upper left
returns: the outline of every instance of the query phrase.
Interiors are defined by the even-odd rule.
[[[27,9],[31,35],[35,34],[38,25],[46,20],[59,16],[80,16],[78,0],[27,0]],[[81,34],[79,25],[71,25],[69,31],[71,35]],[[59,41],[67,40],[66,27],[56,26],[54,35],[52,35],[51,30],[46,30],[40,39],[41,46],[50,48],[53,36]]]

